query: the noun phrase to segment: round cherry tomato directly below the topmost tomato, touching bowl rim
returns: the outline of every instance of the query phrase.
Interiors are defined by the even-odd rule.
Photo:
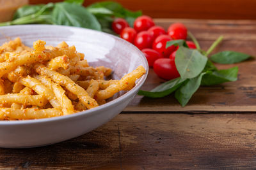
[[[141,31],[134,39],[134,45],[140,50],[144,48],[151,48],[153,42],[153,36],[148,31]]]

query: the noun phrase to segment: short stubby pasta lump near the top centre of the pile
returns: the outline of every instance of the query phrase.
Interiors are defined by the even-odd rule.
[[[59,56],[59,57],[55,57],[54,59],[51,59],[48,64],[47,67],[51,68],[51,69],[58,69],[60,67],[62,67],[63,69],[68,69],[69,67],[69,59],[67,55],[63,55],[63,56]]]

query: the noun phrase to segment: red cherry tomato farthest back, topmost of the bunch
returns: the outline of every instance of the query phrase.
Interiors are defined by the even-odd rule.
[[[155,25],[152,18],[148,17],[147,15],[142,15],[141,17],[136,18],[134,20],[133,27],[137,32],[140,31],[147,31],[150,27]]]

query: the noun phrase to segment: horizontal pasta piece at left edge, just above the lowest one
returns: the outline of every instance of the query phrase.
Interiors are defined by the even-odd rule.
[[[4,103],[19,103],[26,106],[35,105],[42,107],[47,103],[47,99],[41,95],[4,94],[0,95],[0,104]]]

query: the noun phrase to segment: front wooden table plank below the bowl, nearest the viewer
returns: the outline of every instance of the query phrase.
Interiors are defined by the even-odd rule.
[[[56,145],[0,149],[0,169],[245,169],[256,115],[121,114]]]

